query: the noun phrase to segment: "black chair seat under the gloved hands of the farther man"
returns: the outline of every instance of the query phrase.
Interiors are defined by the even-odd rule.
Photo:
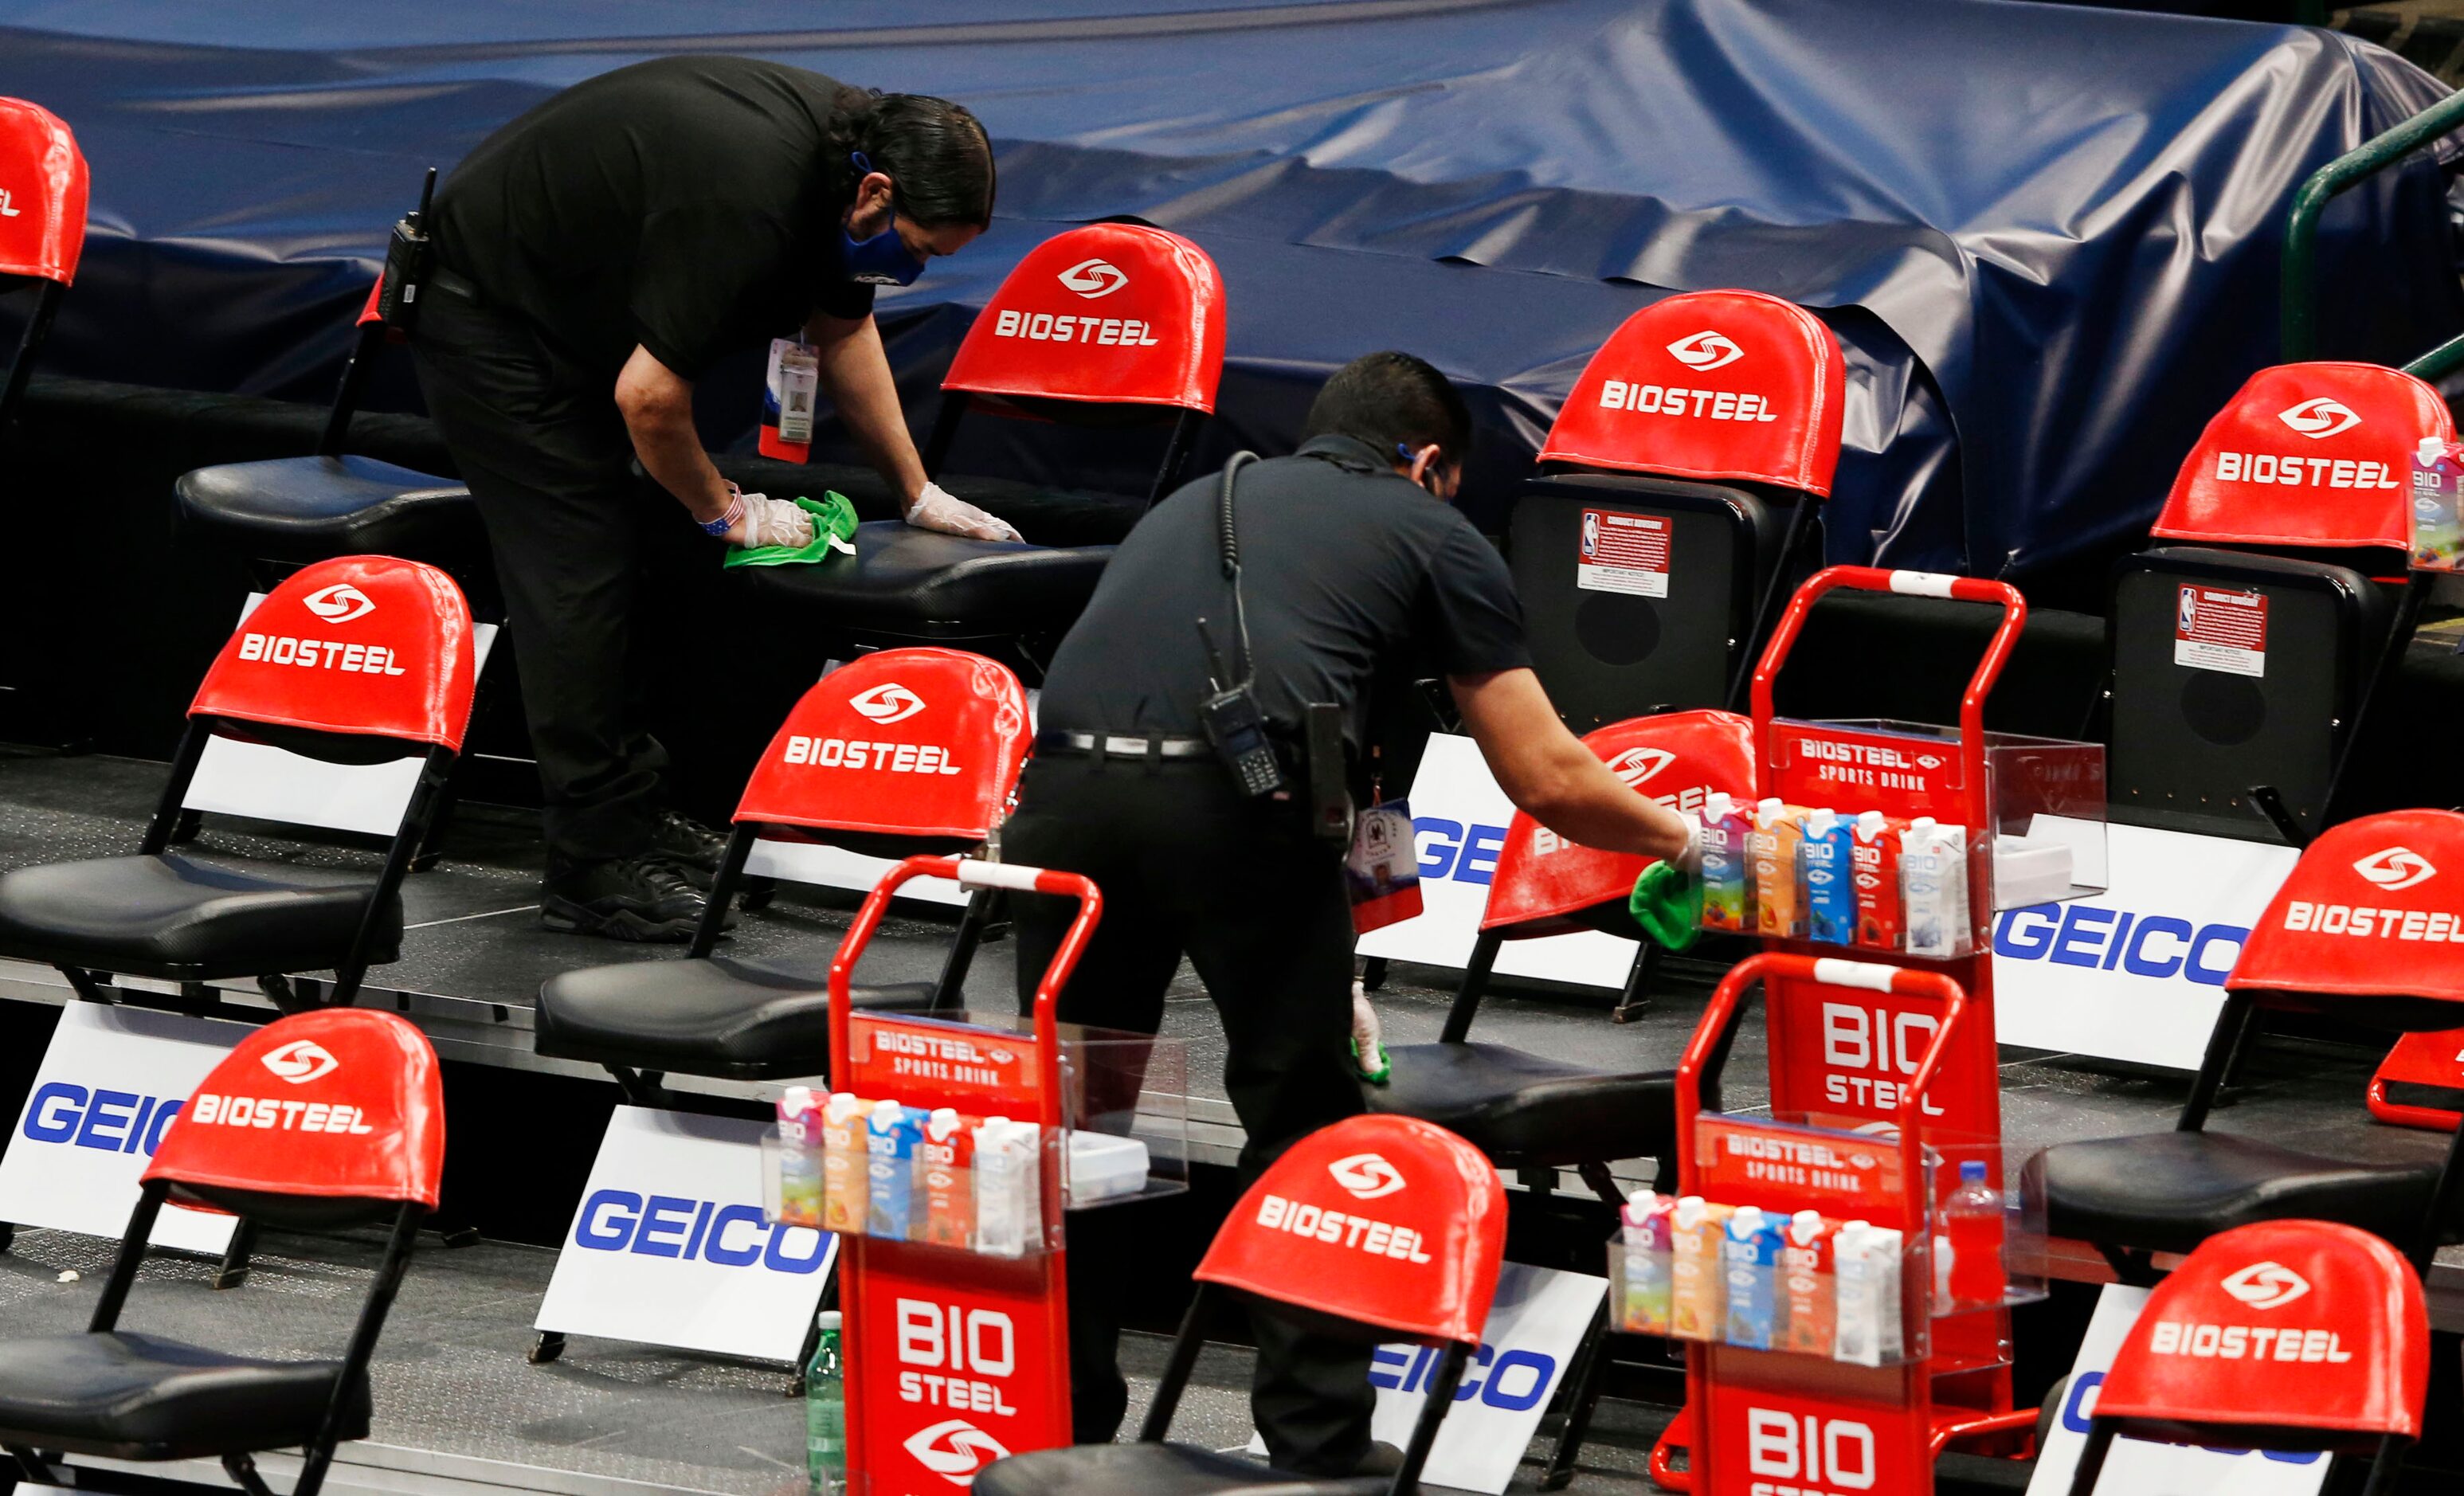
[[[737,574],[798,621],[907,638],[986,638],[1069,628],[1109,559],[1109,545],[968,540],[875,520],[855,527],[853,557]]]

